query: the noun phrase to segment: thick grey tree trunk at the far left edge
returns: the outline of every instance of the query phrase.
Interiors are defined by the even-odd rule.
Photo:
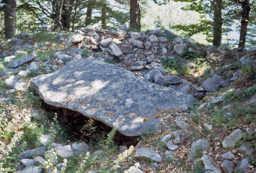
[[[4,0],[4,31],[5,37],[14,37],[17,33],[16,0]]]

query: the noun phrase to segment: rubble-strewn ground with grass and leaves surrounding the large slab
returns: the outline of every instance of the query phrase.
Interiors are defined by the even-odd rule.
[[[116,31],[86,26],[72,34],[21,33],[0,50],[1,172],[255,173],[254,47],[216,48],[125,23]],[[46,104],[29,86],[31,78],[87,57],[196,100],[157,111],[157,132],[127,137],[79,111]]]

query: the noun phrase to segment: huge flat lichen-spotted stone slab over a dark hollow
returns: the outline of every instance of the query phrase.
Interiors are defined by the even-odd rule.
[[[162,87],[124,68],[86,58],[36,76],[31,88],[49,105],[100,120],[127,136],[158,130],[159,109],[192,105],[191,95]]]

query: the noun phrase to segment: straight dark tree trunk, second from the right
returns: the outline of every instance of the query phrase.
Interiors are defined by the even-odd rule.
[[[222,30],[222,0],[213,1],[213,46],[221,45]]]

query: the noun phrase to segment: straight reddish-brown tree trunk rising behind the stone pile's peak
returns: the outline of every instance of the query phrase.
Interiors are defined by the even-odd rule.
[[[139,0],[130,0],[131,28],[141,30],[141,9]]]

